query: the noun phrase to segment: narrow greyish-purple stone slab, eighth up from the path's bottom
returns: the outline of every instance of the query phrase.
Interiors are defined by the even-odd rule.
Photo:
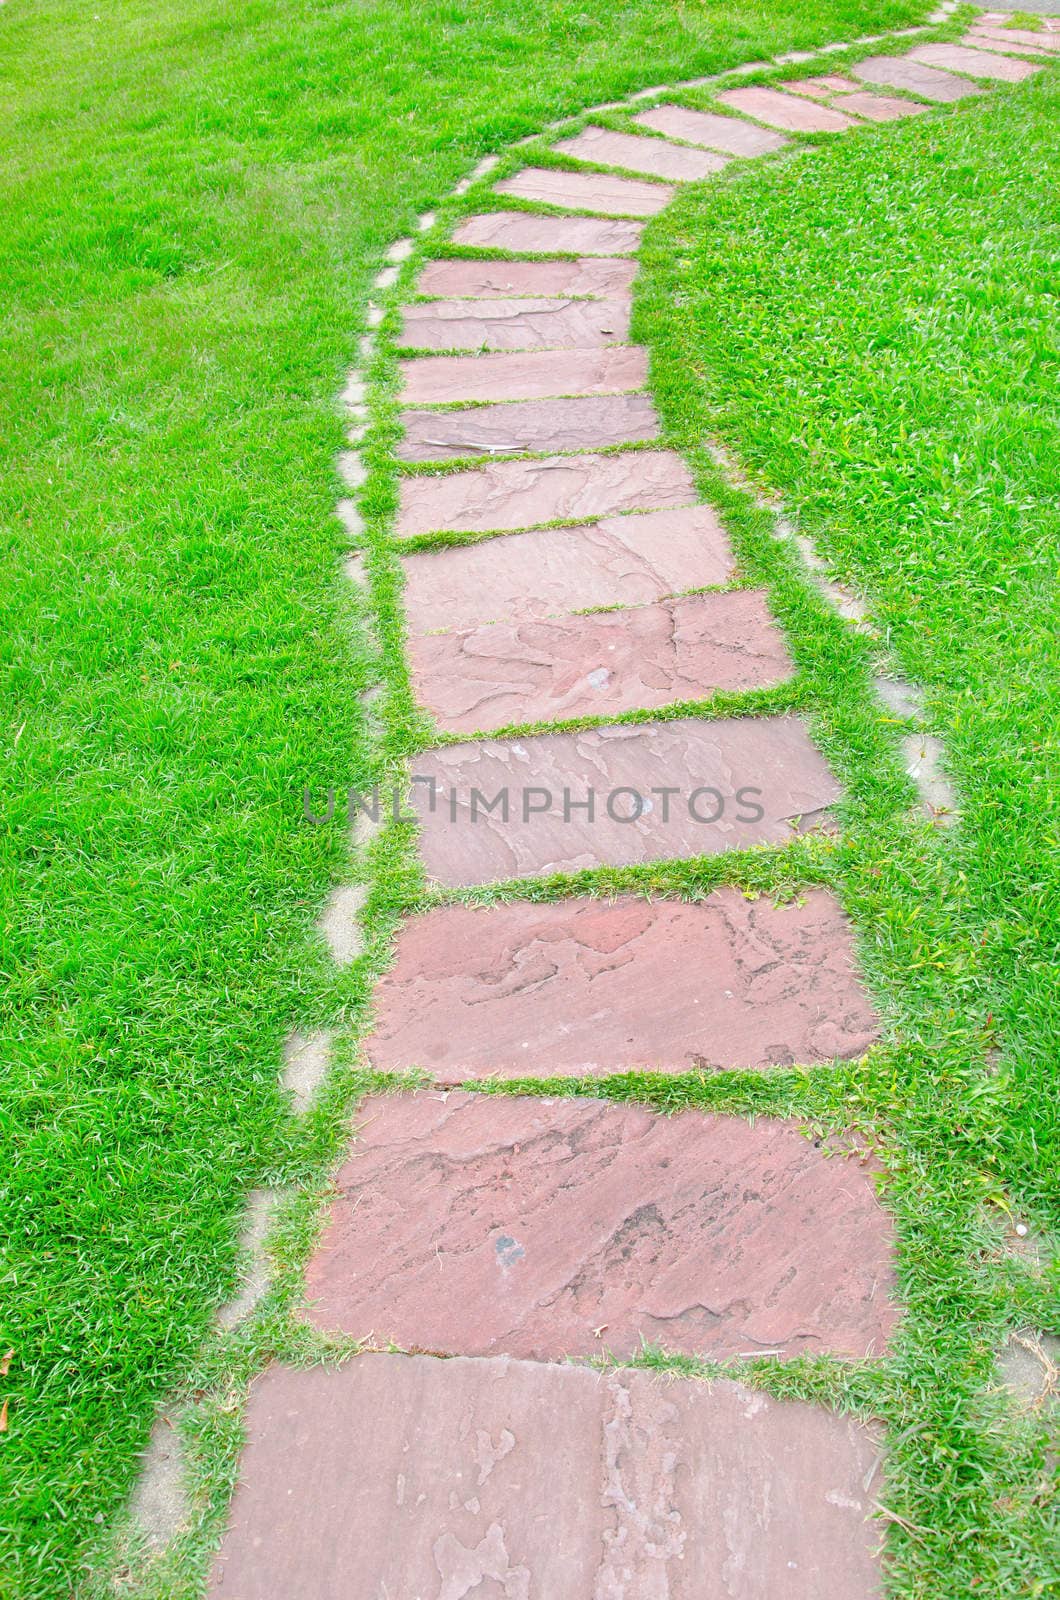
[[[517,450],[604,450],[655,438],[658,418],[647,395],[581,395],[512,400],[466,411],[404,411],[399,461],[445,461]]]

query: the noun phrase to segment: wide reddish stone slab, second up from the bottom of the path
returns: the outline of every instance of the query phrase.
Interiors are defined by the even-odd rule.
[[[873,1174],[794,1123],[461,1091],[370,1096],[359,1122],[306,1274],[327,1333],[540,1362],[884,1354]]]

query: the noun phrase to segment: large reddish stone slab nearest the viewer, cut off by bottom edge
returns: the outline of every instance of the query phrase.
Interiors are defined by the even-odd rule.
[[[216,1600],[877,1600],[852,1418],[729,1381],[429,1355],[271,1366]]]

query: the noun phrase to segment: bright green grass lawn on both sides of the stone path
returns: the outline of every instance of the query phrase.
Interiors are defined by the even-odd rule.
[[[303,824],[301,790],[370,771],[357,693],[376,646],[336,582],[331,461],[381,251],[551,117],[922,10],[0,10],[0,1342],[16,1352],[0,1594],[90,1582],[155,1405],[199,1373],[247,1187],[315,1186],[339,1138],[341,1094],[298,1133],[277,1072],[291,1024],[352,1014],[365,987],[336,981],[311,934],[344,846]],[[639,307],[668,426],[772,586],[850,805],[839,851],[629,882],[836,882],[898,1019],[866,1069],[645,1091],[855,1120],[892,1152],[898,1357],[877,1378],[764,1381],[892,1424],[895,1557],[922,1600],[1047,1594],[1055,1530],[1041,1434],[983,1402],[991,1342],[1042,1326],[1050,1296],[991,1214],[1046,1227],[1057,1194],[1054,93],[1004,91],[687,195],[650,229]],[[725,491],[705,432],[869,594],[929,690],[959,832],[905,816],[865,643]],[[373,560],[386,600],[392,562],[381,546]],[[381,643],[400,754],[392,597]],[[379,939],[420,894],[407,850],[384,846]]]

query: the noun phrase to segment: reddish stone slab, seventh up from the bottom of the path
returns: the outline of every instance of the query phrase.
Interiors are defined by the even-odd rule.
[[[689,469],[673,450],[495,461],[445,477],[404,478],[394,531],[399,539],[439,528],[488,533],[616,510],[687,506],[693,499]]]

